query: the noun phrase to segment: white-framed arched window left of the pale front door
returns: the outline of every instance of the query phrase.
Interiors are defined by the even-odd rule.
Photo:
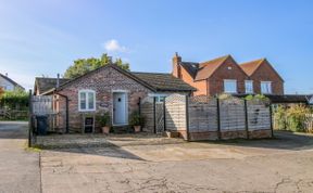
[[[93,90],[80,90],[78,102],[79,112],[96,111],[96,92]]]

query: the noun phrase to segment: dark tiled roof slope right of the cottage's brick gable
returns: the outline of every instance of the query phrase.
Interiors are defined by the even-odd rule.
[[[174,77],[172,74],[165,73],[137,73],[130,72],[133,75],[143,80],[148,85],[155,88],[156,91],[193,91],[190,85]]]

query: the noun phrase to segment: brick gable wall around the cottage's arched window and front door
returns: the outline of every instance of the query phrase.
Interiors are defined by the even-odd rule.
[[[145,98],[151,91],[141,86],[137,81],[121,74],[112,67],[102,68],[98,72],[91,73],[80,79],[67,85],[60,94],[67,95],[70,100],[70,128],[77,131],[82,130],[83,113],[78,111],[78,91],[89,89],[96,91],[96,112],[97,114],[103,112],[112,113],[112,98],[113,90],[125,90],[128,95],[128,113],[138,110],[139,98]],[[65,119],[65,100],[60,99],[60,112]],[[101,106],[100,106],[101,104]],[[60,127],[65,128],[65,120],[60,118]]]

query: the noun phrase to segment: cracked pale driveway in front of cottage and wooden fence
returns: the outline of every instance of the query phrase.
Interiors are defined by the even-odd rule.
[[[42,190],[313,192],[313,136],[278,132],[276,137],[164,144],[151,139],[129,143],[121,137],[98,147],[47,150],[41,153]]]

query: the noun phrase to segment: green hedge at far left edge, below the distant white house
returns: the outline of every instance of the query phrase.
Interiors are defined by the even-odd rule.
[[[5,110],[27,110],[28,93],[20,89],[5,91],[0,98],[0,104]]]

